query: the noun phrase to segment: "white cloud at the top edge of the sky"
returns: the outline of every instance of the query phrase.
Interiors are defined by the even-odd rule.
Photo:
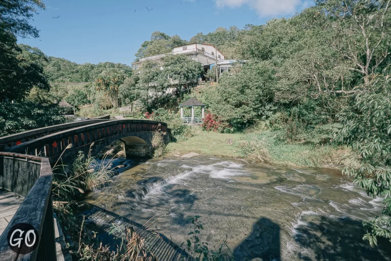
[[[311,5],[309,0],[215,0],[217,8],[247,5],[262,16],[289,15]]]

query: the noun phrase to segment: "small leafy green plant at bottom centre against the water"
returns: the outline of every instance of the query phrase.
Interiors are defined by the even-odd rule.
[[[217,250],[209,249],[208,242],[202,241],[201,232],[204,230],[204,226],[200,218],[201,216],[188,218],[188,221],[191,221],[192,224],[192,231],[188,233],[190,239],[182,243],[182,245],[186,245],[186,249],[191,256],[188,260],[234,260],[232,250],[227,244],[227,236]]]

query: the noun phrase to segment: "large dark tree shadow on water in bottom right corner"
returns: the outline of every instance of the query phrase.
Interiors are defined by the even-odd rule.
[[[360,221],[350,218],[318,216],[297,230],[296,242],[311,249],[314,257],[298,253],[302,260],[390,260],[391,243],[378,239],[378,246],[371,247],[362,240],[364,229]]]

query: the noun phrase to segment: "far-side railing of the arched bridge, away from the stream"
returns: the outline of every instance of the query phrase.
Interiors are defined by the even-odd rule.
[[[109,115],[108,115],[109,116]],[[12,135],[8,135],[5,137],[0,138],[0,151],[7,151],[8,148],[17,146],[19,144],[36,140],[38,138],[42,138],[44,136],[57,133],[60,131],[64,131],[65,129],[71,129],[78,126],[88,125],[88,124],[94,124],[99,122],[108,121],[107,115],[101,116],[99,118],[94,118],[91,120],[82,120],[82,121],[75,121],[75,122],[69,122],[69,123],[63,123],[43,128],[37,128],[32,129],[31,131],[16,133]]]

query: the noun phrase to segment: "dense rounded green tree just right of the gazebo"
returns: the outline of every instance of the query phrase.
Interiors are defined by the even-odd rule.
[[[202,101],[212,114],[240,130],[272,115],[273,88],[270,64],[248,62],[238,73],[223,75],[218,86],[206,89]]]

